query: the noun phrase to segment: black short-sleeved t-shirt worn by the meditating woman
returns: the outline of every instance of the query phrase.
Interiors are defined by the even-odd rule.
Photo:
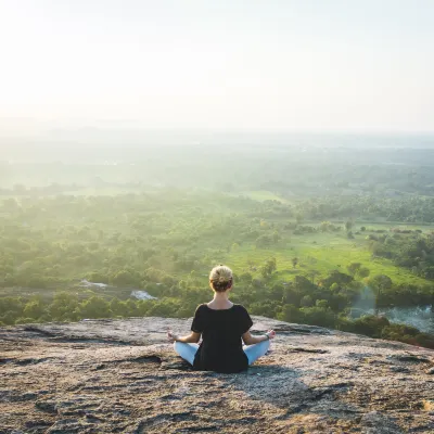
[[[252,326],[247,310],[241,305],[221,310],[200,305],[191,324],[191,330],[202,333],[203,340],[194,357],[194,369],[226,373],[247,369],[241,335]]]

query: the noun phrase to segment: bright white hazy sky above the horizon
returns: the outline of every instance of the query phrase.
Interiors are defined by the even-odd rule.
[[[434,0],[0,0],[0,59],[3,129],[434,131]]]

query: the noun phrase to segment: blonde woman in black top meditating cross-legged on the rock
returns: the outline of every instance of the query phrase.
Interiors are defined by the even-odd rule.
[[[209,273],[214,298],[197,307],[192,333],[182,337],[170,331],[167,333],[169,341],[175,342],[175,350],[197,370],[241,372],[267,353],[270,339],[276,336],[273,330],[252,336],[248,330],[253,322],[247,310],[229,301],[232,284],[230,268],[222,265],[214,267]],[[197,345],[201,335],[202,343]]]

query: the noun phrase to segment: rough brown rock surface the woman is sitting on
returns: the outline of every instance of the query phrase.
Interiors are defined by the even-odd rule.
[[[196,372],[166,341],[190,320],[0,328],[0,433],[433,433],[434,352],[253,317],[271,352]]]

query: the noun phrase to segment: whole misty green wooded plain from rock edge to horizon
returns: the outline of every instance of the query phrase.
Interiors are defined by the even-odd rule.
[[[232,299],[253,315],[432,346],[368,314],[434,305],[434,152],[293,140],[78,146],[67,164],[55,146],[7,148],[1,323],[190,317],[212,295],[209,269],[225,263]]]

